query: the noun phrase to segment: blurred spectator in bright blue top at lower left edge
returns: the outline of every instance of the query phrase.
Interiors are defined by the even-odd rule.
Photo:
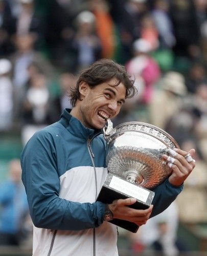
[[[9,178],[0,186],[0,206],[0,245],[19,245],[21,225],[29,210],[18,159],[10,161]]]

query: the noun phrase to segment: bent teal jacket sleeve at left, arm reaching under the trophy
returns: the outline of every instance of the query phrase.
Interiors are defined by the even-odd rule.
[[[81,230],[102,223],[105,204],[78,203],[59,197],[56,150],[50,133],[40,131],[30,139],[21,154],[21,167],[30,215],[36,227]]]

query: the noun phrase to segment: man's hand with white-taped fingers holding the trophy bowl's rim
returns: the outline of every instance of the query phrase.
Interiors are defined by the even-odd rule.
[[[191,174],[195,167],[195,150],[192,148],[189,152],[182,151],[178,148],[168,149],[168,155],[163,155],[166,164],[172,168],[172,174],[169,182],[174,186],[180,186]]]

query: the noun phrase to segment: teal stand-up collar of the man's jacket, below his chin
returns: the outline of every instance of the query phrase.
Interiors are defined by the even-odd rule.
[[[87,140],[101,132],[99,129],[94,130],[85,127],[77,118],[72,116],[70,112],[71,109],[64,109],[59,122],[74,136]]]

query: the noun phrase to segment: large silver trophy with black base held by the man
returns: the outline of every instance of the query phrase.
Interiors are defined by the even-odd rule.
[[[172,172],[163,163],[167,148],[179,148],[168,133],[143,122],[126,122],[113,128],[110,119],[104,127],[108,175],[97,201],[112,203],[115,199],[136,198],[130,207],[147,209],[154,192],[150,189],[162,183]],[[136,232],[139,226],[124,220],[111,223]]]

